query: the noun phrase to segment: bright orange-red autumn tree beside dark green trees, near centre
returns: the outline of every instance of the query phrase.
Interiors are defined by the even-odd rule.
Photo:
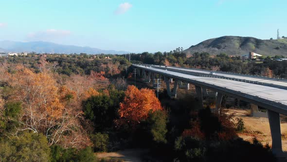
[[[119,126],[130,124],[135,127],[147,119],[149,111],[162,110],[161,102],[152,89],[142,88],[139,90],[134,85],[129,85],[125,94],[124,101],[120,103],[120,119],[116,121]]]

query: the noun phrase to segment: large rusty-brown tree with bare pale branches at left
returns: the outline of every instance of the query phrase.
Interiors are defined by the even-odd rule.
[[[29,129],[46,135],[50,144],[78,148],[90,144],[80,124],[83,112],[75,91],[66,86],[58,88],[49,73],[36,74],[26,68],[13,74],[9,82],[15,89],[11,100],[22,103],[23,113],[15,135]]]

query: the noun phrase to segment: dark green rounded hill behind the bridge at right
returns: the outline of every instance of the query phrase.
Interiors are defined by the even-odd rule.
[[[227,55],[245,55],[255,52],[260,55],[287,56],[287,39],[260,40],[253,37],[224,36],[202,41],[184,50],[187,55],[195,52],[208,52],[211,55],[225,53]]]

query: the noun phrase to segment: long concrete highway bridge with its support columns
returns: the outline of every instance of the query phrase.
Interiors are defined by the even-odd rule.
[[[211,71],[172,66],[140,64],[132,66],[137,68],[138,75],[147,81],[151,79],[154,81],[156,76],[163,78],[170,97],[177,97],[177,89],[182,82],[185,85],[195,85],[201,108],[203,108],[203,97],[207,94],[206,89],[209,89],[216,92],[215,110],[217,111],[220,109],[223,94],[249,102],[251,107],[260,106],[267,109],[272,152],[276,157],[287,158],[287,153],[282,150],[279,117],[279,114],[287,115],[287,81],[224,72],[212,72],[211,74]],[[170,80],[174,80],[173,90],[170,88]]]

